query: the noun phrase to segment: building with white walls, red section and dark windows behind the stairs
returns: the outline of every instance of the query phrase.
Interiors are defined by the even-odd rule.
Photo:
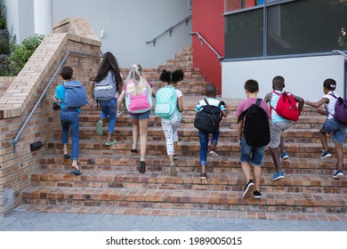
[[[335,78],[346,96],[345,0],[12,0],[7,23],[20,42],[49,33],[54,23],[83,17],[122,68],[156,68],[192,46],[193,64],[223,97],[244,98],[248,78],[271,90],[273,76],[286,90],[315,100]],[[343,31],[344,30],[344,31]],[[344,32],[344,33],[343,33]]]

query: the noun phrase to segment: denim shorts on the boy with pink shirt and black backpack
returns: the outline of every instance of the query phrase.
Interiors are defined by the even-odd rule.
[[[241,140],[241,162],[251,163],[255,166],[262,165],[262,158],[264,157],[265,146],[253,147],[246,143],[245,137]]]

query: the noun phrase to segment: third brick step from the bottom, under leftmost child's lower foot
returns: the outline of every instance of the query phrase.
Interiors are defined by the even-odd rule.
[[[38,171],[31,175],[33,186],[102,188],[102,189],[177,189],[201,191],[242,191],[246,179],[239,173],[209,173],[208,181],[200,180],[199,173],[93,172],[84,171],[75,177],[69,171]],[[347,194],[347,178],[336,181],[331,176],[286,175],[271,181],[270,174],[262,176],[262,192]]]

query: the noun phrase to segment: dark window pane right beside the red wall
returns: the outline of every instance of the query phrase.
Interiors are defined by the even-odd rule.
[[[263,55],[262,8],[229,15],[225,25],[226,59]]]

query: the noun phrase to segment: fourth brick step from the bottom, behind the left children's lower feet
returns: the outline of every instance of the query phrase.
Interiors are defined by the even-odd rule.
[[[347,160],[344,160],[347,163]],[[39,159],[41,169],[44,170],[70,170],[71,160],[64,159],[62,152],[54,155],[47,154]],[[201,167],[199,157],[179,157],[175,164],[179,173],[200,173]],[[139,155],[80,155],[78,164],[83,171],[97,172],[138,172],[140,165]],[[169,160],[167,156],[146,157],[148,173],[168,172]],[[334,159],[321,160],[319,158],[295,158],[283,161],[282,169],[286,174],[310,174],[331,176],[336,168]],[[207,157],[207,173],[239,173],[241,169],[240,159],[238,157]],[[275,170],[272,158],[265,156],[262,172],[272,174]]]

